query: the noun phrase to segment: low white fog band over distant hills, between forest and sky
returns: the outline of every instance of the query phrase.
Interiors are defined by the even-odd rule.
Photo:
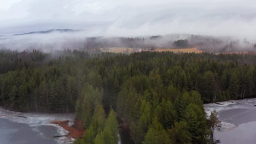
[[[177,46],[177,40],[187,40],[185,45]],[[256,40],[193,34],[169,34],[140,37],[98,36],[89,31],[50,33],[30,33],[4,35],[0,37],[0,49],[43,52],[60,50],[82,50],[97,53],[110,47],[130,47],[142,50],[182,49],[197,47],[206,52],[256,52]]]

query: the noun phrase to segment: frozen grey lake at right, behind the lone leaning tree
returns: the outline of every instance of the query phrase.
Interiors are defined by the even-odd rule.
[[[216,109],[222,121],[222,128],[214,132],[214,137],[221,143],[256,143],[256,99],[230,100],[220,104],[205,104],[207,115]]]

